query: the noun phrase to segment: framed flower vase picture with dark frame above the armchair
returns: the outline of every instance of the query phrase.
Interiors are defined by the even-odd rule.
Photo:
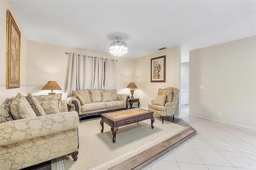
[[[151,82],[165,82],[166,55],[151,59]]]

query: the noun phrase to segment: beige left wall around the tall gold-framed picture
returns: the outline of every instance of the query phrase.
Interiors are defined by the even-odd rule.
[[[6,89],[6,20],[7,10],[10,10],[20,32],[20,83],[27,81],[27,40],[22,30],[20,22],[16,16],[10,0],[0,0],[0,105],[7,103],[8,99],[16,96],[18,92],[26,95],[27,87],[21,86],[20,88]]]

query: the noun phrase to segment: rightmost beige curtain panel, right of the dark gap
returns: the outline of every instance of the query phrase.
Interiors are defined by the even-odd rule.
[[[106,59],[104,89],[117,89],[116,61]]]

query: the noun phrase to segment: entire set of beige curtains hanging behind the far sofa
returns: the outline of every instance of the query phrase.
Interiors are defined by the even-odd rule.
[[[74,90],[116,89],[116,61],[70,53],[65,99]]]

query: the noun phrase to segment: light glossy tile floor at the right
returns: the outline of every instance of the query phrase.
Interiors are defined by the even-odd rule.
[[[181,117],[197,134],[143,170],[256,170],[256,130],[189,117]]]

